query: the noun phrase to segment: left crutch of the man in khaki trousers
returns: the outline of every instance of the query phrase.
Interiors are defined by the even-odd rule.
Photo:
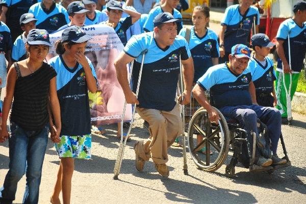
[[[144,55],[146,54],[146,52],[147,52],[147,50],[144,50],[141,53],[142,59],[141,59],[141,65],[140,65],[140,70],[139,70],[139,77],[138,77],[138,83],[137,83],[137,89],[136,89],[136,97],[138,96],[138,92],[139,92],[139,85],[140,85],[140,80],[141,80],[141,73],[142,73]],[[131,63],[129,84],[130,84],[131,78],[132,78],[133,65],[134,65],[134,61]],[[116,163],[115,163],[115,167],[114,167],[114,180],[118,180],[118,175],[120,173],[120,168],[121,168],[123,154],[124,154],[124,148],[125,148],[125,145],[126,145],[127,138],[129,138],[130,132],[132,130],[132,125],[133,125],[133,122],[134,122],[136,104],[135,104],[135,107],[133,109],[131,124],[130,124],[129,130],[127,131],[125,139],[123,141],[123,119],[124,119],[124,114],[125,114],[125,108],[126,108],[126,100],[124,100],[124,107],[123,107],[123,113],[122,113],[122,118],[121,118],[121,131],[120,131],[121,138],[120,138],[119,151],[118,151],[118,155],[117,155],[117,159],[116,159]]]

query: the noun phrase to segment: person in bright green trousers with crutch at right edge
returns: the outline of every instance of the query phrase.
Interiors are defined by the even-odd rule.
[[[275,82],[276,108],[281,112],[284,124],[291,123],[292,120],[291,100],[306,53],[306,2],[297,2],[293,6],[293,13],[292,18],[282,22],[276,35],[276,50],[279,56]]]

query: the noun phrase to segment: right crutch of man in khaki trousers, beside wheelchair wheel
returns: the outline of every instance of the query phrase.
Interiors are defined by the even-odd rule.
[[[180,58],[180,83],[177,84],[177,94],[181,94],[181,101],[184,100],[183,92],[184,92],[184,86],[183,86],[183,70],[182,70],[182,61]],[[180,102],[180,101],[179,101]],[[185,112],[184,112],[184,105],[181,105],[181,115],[182,115],[182,121],[183,121],[183,132],[182,132],[182,139],[183,139],[183,170],[184,174],[188,175],[188,166],[187,166],[187,158],[186,158],[186,138],[185,138]]]

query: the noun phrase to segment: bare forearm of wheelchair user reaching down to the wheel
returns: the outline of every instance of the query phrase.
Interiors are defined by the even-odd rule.
[[[218,123],[218,120],[220,119],[219,114],[209,104],[209,101],[204,94],[204,90],[198,84],[196,84],[192,89],[192,94],[198,103],[207,110],[210,121]]]

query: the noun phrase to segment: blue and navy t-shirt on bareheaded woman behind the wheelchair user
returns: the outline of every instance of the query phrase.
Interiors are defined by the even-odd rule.
[[[179,35],[185,37],[186,29],[182,29]],[[208,68],[213,66],[212,58],[219,57],[218,37],[215,32],[207,29],[205,36],[200,38],[192,27],[190,29],[189,49],[194,67],[193,82],[196,82]]]

